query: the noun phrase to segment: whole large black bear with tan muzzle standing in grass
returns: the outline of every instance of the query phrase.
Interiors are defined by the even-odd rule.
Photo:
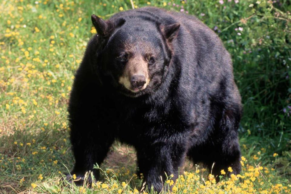
[[[188,156],[212,174],[241,170],[241,98],[219,37],[191,15],[145,7],[108,20],[75,74],[69,122],[81,178],[105,159],[112,142],[134,146],[146,185],[163,188]],[[161,177],[163,180],[161,180]],[[82,182],[81,182],[82,183]]]

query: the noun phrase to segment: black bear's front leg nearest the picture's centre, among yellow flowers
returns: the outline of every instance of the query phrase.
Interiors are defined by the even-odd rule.
[[[175,182],[179,168],[181,169],[184,163],[185,147],[178,142],[162,142],[137,149],[139,172],[143,174],[149,191],[152,187],[155,191],[162,191],[166,176],[174,175],[172,180]]]

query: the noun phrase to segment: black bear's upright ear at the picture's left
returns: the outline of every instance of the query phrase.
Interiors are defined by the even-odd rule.
[[[115,23],[112,23],[109,20],[103,20],[96,15],[91,15],[92,23],[99,35],[102,37],[108,36],[113,28],[120,27],[125,23],[125,19],[119,18]]]

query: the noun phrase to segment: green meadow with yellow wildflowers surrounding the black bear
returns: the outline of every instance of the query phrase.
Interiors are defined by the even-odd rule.
[[[163,193],[170,186],[180,194],[291,193],[290,0],[133,4],[195,15],[213,29],[232,56],[244,105],[241,174],[229,177],[229,168],[216,183],[202,164],[187,161],[176,182],[169,175]],[[106,19],[128,9],[129,0],[0,1],[0,193],[139,193],[135,151],[119,142],[96,166],[102,179],[92,188],[63,178],[74,164],[69,94],[96,33],[90,16]]]

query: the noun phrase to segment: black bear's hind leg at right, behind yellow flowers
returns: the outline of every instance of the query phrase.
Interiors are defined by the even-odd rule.
[[[188,156],[194,164],[203,162],[208,167],[209,173],[212,173],[216,181],[219,181],[219,176],[222,175],[221,170],[224,170],[228,176],[239,174],[241,170],[237,132],[241,111],[239,104],[232,105],[228,109],[217,110],[214,113],[216,123],[211,126],[211,135],[201,145],[196,143],[192,146],[188,151]],[[193,142],[195,141],[196,139],[193,139]],[[232,172],[228,172],[229,167],[232,168],[230,170]]]

